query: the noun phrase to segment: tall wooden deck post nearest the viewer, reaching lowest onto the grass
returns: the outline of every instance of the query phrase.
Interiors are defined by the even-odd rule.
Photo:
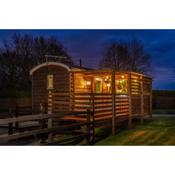
[[[116,112],[115,112],[115,71],[112,71],[112,134],[116,132]]]

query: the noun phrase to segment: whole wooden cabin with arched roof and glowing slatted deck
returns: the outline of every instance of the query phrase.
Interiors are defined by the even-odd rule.
[[[152,79],[143,74],[45,62],[34,67],[30,75],[35,113],[44,106],[48,113],[89,109],[95,120],[112,116],[125,120],[152,114]]]

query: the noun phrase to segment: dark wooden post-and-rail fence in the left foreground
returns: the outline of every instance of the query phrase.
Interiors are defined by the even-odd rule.
[[[86,115],[87,117],[87,121],[86,122],[78,122],[78,123],[72,123],[69,125],[57,125],[54,126],[53,122],[54,119],[59,117],[59,121],[64,121],[63,116],[65,115]],[[27,138],[29,136],[39,136],[39,135],[43,135],[43,134],[47,134],[48,135],[48,140],[47,140],[47,144],[52,144],[52,138],[53,138],[53,134],[56,133],[65,133],[65,131],[69,131],[69,130],[74,130],[77,127],[82,127],[82,126],[86,126],[87,127],[87,132],[83,133],[83,134],[79,134],[78,136],[72,137],[71,139],[77,139],[77,138],[86,138],[87,139],[87,144],[93,144],[94,142],[94,121],[93,121],[93,113],[91,111],[86,111],[85,112],[74,112],[74,113],[70,113],[70,112],[62,112],[59,114],[38,114],[38,115],[28,115],[28,116],[19,116],[18,118],[7,118],[7,119],[0,119],[0,125],[2,124],[8,124],[9,127],[13,126],[13,125],[9,125],[13,124],[15,122],[25,122],[25,121],[43,121],[45,120],[46,123],[46,127],[41,127],[39,129],[34,129],[31,131],[26,131],[26,132],[22,132],[22,133],[10,133],[9,135],[0,135],[0,144],[5,144],[8,143],[9,141],[14,141],[14,140],[18,140],[21,138]],[[58,120],[57,120],[58,121]],[[11,130],[12,128],[9,128],[9,130]],[[69,139],[69,140],[71,140]],[[54,143],[53,143],[54,144]]]

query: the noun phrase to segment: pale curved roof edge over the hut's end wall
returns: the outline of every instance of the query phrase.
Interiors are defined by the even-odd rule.
[[[44,67],[44,66],[50,66],[50,65],[53,65],[53,66],[60,66],[60,67],[63,67],[65,69],[67,69],[68,71],[70,71],[71,69],[63,64],[63,63],[57,63],[57,62],[45,62],[45,63],[42,63],[42,64],[39,64],[38,66],[34,67],[33,69],[30,70],[30,75],[33,74],[33,72],[35,72],[36,70],[40,69],[41,67]]]

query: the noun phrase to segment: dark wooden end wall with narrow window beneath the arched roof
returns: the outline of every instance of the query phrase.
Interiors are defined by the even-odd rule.
[[[50,75],[49,80],[48,75]],[[50,103],[48,103],[49,91],[59,90],[68,92],[70,88],[69,80],[69,72],[63,67],[52,65],[36,70],[32,75],[32,108],[34,113],[40,112],[41,104],[44,108],[49,108],[50,111],[51,107]]]

